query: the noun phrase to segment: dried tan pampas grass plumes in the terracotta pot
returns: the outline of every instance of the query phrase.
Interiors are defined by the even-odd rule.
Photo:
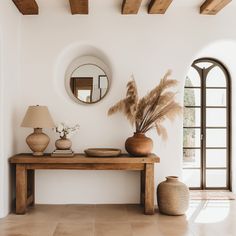
[[[167,139],[167,131],[161,123],[165,119],[173,121],[182,112],[182,107],[175,102],[176,93],[169,91],[178,83],[177,80],[170,79],[170,75],[171,71],[168,71],[159,85],[141,99],[138,98],[137,86],[132,76],[127,84],[126,98],[112,106],[108,115],[123,112],[130,123],[135,124],[136,132],[146,133],[155,128],[163,139]]]

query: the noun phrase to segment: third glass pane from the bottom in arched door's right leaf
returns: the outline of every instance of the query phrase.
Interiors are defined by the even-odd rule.
[[[207,147],[226,147],[226,129],[206,129]]]

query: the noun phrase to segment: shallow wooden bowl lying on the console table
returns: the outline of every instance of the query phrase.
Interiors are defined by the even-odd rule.
[[[89,157],[118,157],[121,154],[116,148],[88,148],[84,152]]]

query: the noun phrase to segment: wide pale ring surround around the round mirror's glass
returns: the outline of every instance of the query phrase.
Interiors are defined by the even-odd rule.
[[[104,94],[104,96],[100,99],[97,100],[95,102],[84,102],[82,100],[79,100],[78,98],[75,97],[75,95],[73,94],[73,92],[71,91],[70,88],[70,80],[71,80],[71,75],[73,74],[73,72],[78,69],[81,66],[84,65],[94,65],[99,67],[101,70],[104,71],[104,73],[107,76],[107,83],[108,83],[108,87],[107,87],[107,91]],[[101,100],[103,100],[106,95],[108,94],[109,90],[111,87],[111,71],[109,69],[109,67],[99,58],[94,57],[94,56],[82,56],[82,57],[78,57],[76,58],[74,61],[72,61],[72,63],[68,66],[68,69],[66,70],[66,74],[65,74],[65,88],[66,88],[66,92],[67,94],[70,96],[70,98],[79,104],[84,104],[84,105],[91,105],[91,104],[95,104],[100,102]]]

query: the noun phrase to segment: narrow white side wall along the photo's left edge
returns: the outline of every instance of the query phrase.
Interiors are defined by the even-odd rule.
[[[8,158],[16,152],[20,15],[11,1],[0,7],[0,218],[10,210],[12,188]]]

